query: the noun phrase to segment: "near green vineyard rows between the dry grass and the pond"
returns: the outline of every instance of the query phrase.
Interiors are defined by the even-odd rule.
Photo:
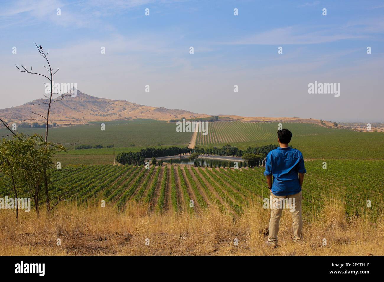
[[[323,169],[320,160],[306,161],[307,174],[303,184],[303,212],[310,220],[313,211],[321,211],[325,195],[338,194],[346,201],[349,215],[369,211],[377,218],[383,206],[383,160],[329,160]],[[264,168],[194,168],[163,165],[162,167],[94,165],[55,170],[50,191],[53,199],[62,191],[75,189],[72,200],[105,200],[106,204],[124,209],[130,202],[146,202],[152,211],[189,210],[198,213],[209,205],[220,206],[239,216],[254,198],[263,203],[269,197]],[[9,194],[2,183],[0,196]],[[27,196],[28,194],[25,194]],[[20,196],[20,195],[19,195]],[[367,201],[371,207],[367,209]],[[42,199],[43,202],[43,199]]]

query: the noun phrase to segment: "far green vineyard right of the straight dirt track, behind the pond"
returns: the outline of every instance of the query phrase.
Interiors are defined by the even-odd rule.
[[[197,146],[221,147],[226,143],[245,149],[248,146],[277,145],[277,122],[215,122],[209,123],[209,134],[199,132]],[[312,159],[384,159],[384,135],[380,132],[356,132],[329,129],[310,123],[283,123],[291,130],[290,145],[304,158]]]

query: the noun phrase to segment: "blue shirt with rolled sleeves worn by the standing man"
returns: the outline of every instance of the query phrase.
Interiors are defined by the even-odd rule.
[[[299,172],[307,172],[303,154],[299,150],[278,147],[266,156],[264,175],[273,175],[273,195],[288,196],[299,193]]]

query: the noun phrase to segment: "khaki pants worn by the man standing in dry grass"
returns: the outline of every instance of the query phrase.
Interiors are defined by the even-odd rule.
[[[289,196],[276,196],[271,193],[272,202],[276,201],[286,201],[292,204],[291,209],[288,210],[292,214],[292,226],[293,226],[293,241],[299,241],[303,238],[303,217],[301,216],[301,191],[294,195]],[[277,233],[279,232],[279,222],[281,217],[281,212],[283,208],[281,206],[271,206],[271,219],[269,221],[269,234],[268,241],[277,246]]]

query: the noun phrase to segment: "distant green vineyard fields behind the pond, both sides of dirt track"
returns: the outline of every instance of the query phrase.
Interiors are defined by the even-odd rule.
[[[99,124],[76,125],[50,129],[50,140],[65,143],[67,153],[54,157],[62,165],[101,165],[113,164],[120,152],[137,152],[146,146],[168,147],[170,145],[187,146],[191,132],[176,132],[175,123],[156,120],[133,120],[105,122],[106,130],[101,131]],[[256,144],[277,145],[278,123],[276,122],[209,122],[208,135],[200,132],[197,146],[223,146],[230,143],[245,149]],[[310,123],[283,123],[293,133],[290,145],[298,148],[305,159],[384,159],[384,135],[382,133],[356,132],[346,129],[329,129]],[[18,128],[19,132],[44,134],[44,129]],[[0,129],[0,134],[8,134]],[[77,142],[77,143],[76,143]],[[210,142],[210,143],[209,143]],[[76,143],[76,145],[68,145]],[[130,147],[130,145],[135,145]],[[158,144],[162,144],[158,146]],[[74,150],[78,145],[114,145],[113,148]]]

